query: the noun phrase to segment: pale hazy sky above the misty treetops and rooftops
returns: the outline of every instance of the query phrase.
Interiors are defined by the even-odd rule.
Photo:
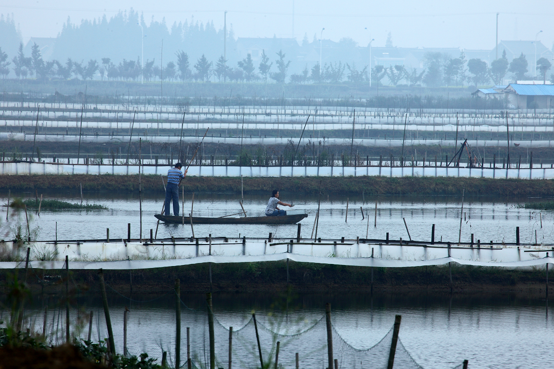
[[[117,11],[134,8],[147,23],[153,16],[174,21],[213,20],[223,27],[233,24],[235,37],[292,37],[301,41],[306,33],[338,41],[351,37],[360,45],[383,46],[388,32],[395,46],[461,47],[492,49],[495,43],[496,13],[499,12],[499,40],[534,40],[538,35],[548,48],[554,41],[553,0],[203,0],[163,2],[145,0],[0,0],[0,13],[13,13],[26,42],[29,37],[55,37],[65,20],[110,18]],[[367,28],[367,30],[366,30]],[[1,37],[1,35],[0,35]]]

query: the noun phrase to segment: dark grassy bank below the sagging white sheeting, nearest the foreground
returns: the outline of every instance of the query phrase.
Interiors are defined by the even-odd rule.
[[[209,292],[208,264],[131,271],[132,290],[140,293],[169,292],[175,278],[181,280],[184,291]],[[60,271],[40,271],[30,279],[35,292],[63,292]],[[47,282],[40,282],[47,274]],[[73,271],[72,277],[82,291],[99,291],[96,271]],[[130,289],[129,271],[104,271],[106,283],[126,292]],[[56,277],[58,276],[58,277]],[[0,279],[6,278],[2,274]],[[299,292],[345,292],[371,290],[371,268],[312,263],[289,263],[290,286]],[[452,266],[453,288],[456,292],[532,292],[541,293],[545,287],[545,271],[521,271],[502,268]],[[373,289],[376,292],[433,290],[449,292],[447,267],[374,268]],[[212,264],[214,291],[250,292],[285,291],[288,288],[285,262]],[[4,286],[5,283],[2,284]],[[73,287],[71,287],[73,288]]]

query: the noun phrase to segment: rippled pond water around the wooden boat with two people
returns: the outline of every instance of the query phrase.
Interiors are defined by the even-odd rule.
[[[6,204],[7,194],[0,198],[0,204]],[[32,193],[13,194],[34,198]],[[48,199],[59,199],[69,202],[80,202],[78,191],[74,193],[47,193]],[[146,237],[152,228],[156,231],[157,220],[153,216],[160,213],[164,194],[146,195],[142,200],[142,235]],[[314,230],[317,212],[317,196],[283,193],[281,199],[291,202],[293,208],[286,207],[289,214],[306,213],[302,220],[302,237],[309,238]],[[241,212],[240,195],[234,194],[192,194],[184,195],[185,214],[194,216],[218,217]],[[244,198],[244,209],[248,216],[263,216],[268,196],[248,195]],[[377,226],[375,222],[375,201],[377,200]],[[471,198],[466,196],[461,224],[461,241],[469,242],[471,233],[475,242],[482,243],[515,242],[515,228],[520,227],[521,242],[538,243],[554,242],[554,213],[520,209],[518,204],[527,201],[545,199],[521,198],[506,199],[494,197]],[[131,237],[139,238],[140,211],[138,196],[124,194],[86,194],[84,202],[101,204],[108,210],[42,210],[40,216],[29,210],[29,224],[33,233],[38,233],[38,240],[85,240],[105,238],[106,228],[110,228],[112,240],[126,238],[127,223],[131,223]],[[182,201],[180,201],[182,204]],[[181,206],[179,204],[179,206]],[[348,217],[346,219],[346,207]],[[327,196],[321,199],[320,219],[317,236],[324,238],[385,238],[389,233],[391,239],[429,241],[432,225],[435,224],[435,240],[457,242],[460,229],[461,197],[456,196]],[[363,209],[363,215],[360,207]],[[6,207],[2,207],[6,211]],[[11,239],[17,225],[25,228],[25,213],[22,210],[10,210],[9,221],[0,224],[0,237]],[[182,214],[182,213],[181,213]],[[239,215],[234,215],[239,216]],[[4,217],[5,219],[5,217]],[[406,220],[406,226],[404,225]],[[57,222],[57,224],[56,224]],[[214,237],[266,237],[272,232],[274,237],[296,237],[296,225],[194,225],[198,236]],[[536,233],[535,233],[536,232]],[[315,232],[313,232],[315,233]],[[190,237],[191,226],[164,225],[158,227],[158,238]]]

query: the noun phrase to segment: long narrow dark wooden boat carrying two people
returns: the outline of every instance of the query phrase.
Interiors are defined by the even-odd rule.
[[[249,216],[239,218],[208,218],[193,216],[192,224],[296,224],[306,218],[307,214],[283,215],[283,216]],[[160,215],[155,214],[155,217],[164,223],[182,224],[182,216]],[[188,216],[184,217],[184,224],[191,224]]]

